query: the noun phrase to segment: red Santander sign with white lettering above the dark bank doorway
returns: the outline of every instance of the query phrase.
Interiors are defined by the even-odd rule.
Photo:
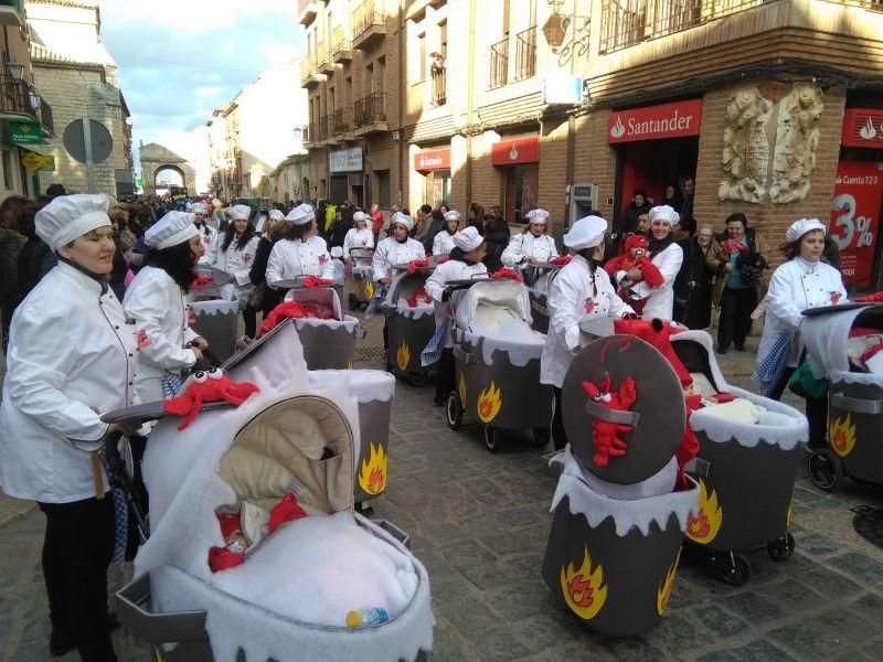
[[[699,136],[702,99],[632,108],[611,113],[607,118],[609,143]]]

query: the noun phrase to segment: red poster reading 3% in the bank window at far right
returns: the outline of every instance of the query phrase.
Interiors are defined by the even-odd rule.
[[[840,248],[843,281],[855,287],[871,285],[874,241],[883,203],[883,163],[840,161],[831,201],[831,237]]]

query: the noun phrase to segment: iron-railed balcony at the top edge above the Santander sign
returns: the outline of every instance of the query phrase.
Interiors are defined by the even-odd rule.
[[[826,0],[826,2],[883,12],[883,0]],[[613,53],[764,4],[772,2],[770,0],[603,0],[599,51]]]

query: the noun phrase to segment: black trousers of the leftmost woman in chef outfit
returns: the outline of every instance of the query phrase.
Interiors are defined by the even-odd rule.
[[[46,515],[42,560],[53,634],[76,643],[84,662],[115,662],[107,629],[114,502],[108,494],[38,505]]]

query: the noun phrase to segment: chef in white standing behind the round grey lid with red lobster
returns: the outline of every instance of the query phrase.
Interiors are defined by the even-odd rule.
[[[579,321],[584,318],[634,317],[635,311],[617,295],[610,278],[600,267],[607,221],[586,216],[564,235],[573,259],[558,271],[549,292],[549,337],[540,359],[540,382],[555,389],[552,439],[555,449],[567,445],[561,407],[564,375],[579,348]]]

